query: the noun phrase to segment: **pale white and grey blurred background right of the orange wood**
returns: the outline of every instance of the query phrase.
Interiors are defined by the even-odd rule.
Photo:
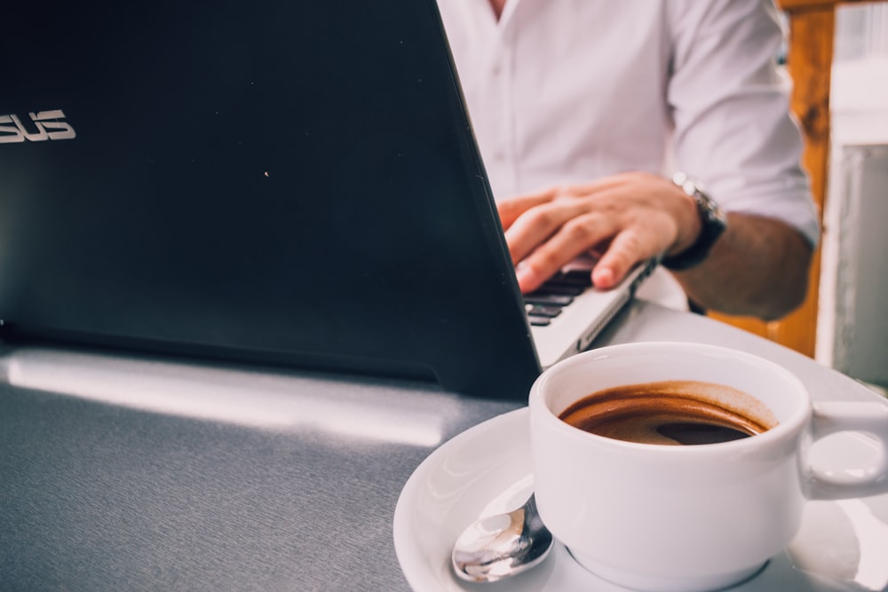
[[[888,387],[888,3],[836,8],[816,358]]]

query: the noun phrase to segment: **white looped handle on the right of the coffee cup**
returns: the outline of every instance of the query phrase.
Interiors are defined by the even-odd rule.
[[[860,431],[876,437],[876,462],[862,469],[821,470],[808,467],[808,499],[841,500],[888,493],[888,402],[816,403],[813,440],[839,431]]]

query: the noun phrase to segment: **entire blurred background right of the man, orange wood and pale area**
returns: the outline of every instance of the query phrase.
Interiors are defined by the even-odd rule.
[[[710,314],[888,393],[888,1],[776,0],[823,238],[808,295],[778,321]]]

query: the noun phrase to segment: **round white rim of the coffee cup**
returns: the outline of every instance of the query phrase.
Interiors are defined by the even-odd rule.
[[[674,446],[668,444],[629,442],[616,438],[607,438],[606,436],[600,436],[599,434],[593,434],[589,431],[581,430],[580,428],[559,419],[558,415],[551,410],[548,403],[543,398],[543,390],[546,384],[553,379],[553,376],[569,371],[573,367],[584,366],[594,359],[613,358],[617,356],[622,357],[643,352],[661,353],[663,352],[662,348],[664,347],[670,348],[670,351],[667,351],[667,353],[676,353],[677,350],[688,352],[695,351],[698,353],[701,351],[708,351],[711,354],[739,357],[757,365],[767,367],[769,371],[773,371],[774,374],[780,376],[781,380],[791,385],[791,388],[796,391],[798,397],[802,399],[801,404],[797,405],[797,408],[795,408],[788,417],[781,420],[776,426],[770,430],[756,434],[755,438],[741,438],[729,442],[717,442],[713,444],[695,444],[694,446]],[[802,383],[798,376],[770,359],[762,358],[761,356],[749,353],[748,351],[741,351],[723,345],[710,343],[649,341],[606,345],[595,350],[582,351],[570,358],[556,362],[551,367],[546,368],[546,370],[544,370],[534,381],[528,396],[528,407],[530,407],[532,416],[534,414],[534,408],[541,407],[543,413],[539,414],[539,416],[543,421],[554,426],[556,430],[561,430],[563,433],[569,434],[573,438],[591,440],[593,442],[599,442],[602,445],[614,446],[616,448],[624,448],[627,450],[651,451],[649,454],[681,454],[687,456],[690,454],[709,454],[712,451],[724,451],[728,447],[739,451],[742,448],[758,447],[765,445],[772,440],[784,438],[786,434],[799,430],[803,426],[805,418],[811,412],[812,403],[810,394],[805,388],[805,384]]]

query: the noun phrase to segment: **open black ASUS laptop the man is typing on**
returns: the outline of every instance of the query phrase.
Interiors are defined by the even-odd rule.
[[[42,7],[0,37],[7,342],[521,400],[650,270],[526,302],[434,0]]]

